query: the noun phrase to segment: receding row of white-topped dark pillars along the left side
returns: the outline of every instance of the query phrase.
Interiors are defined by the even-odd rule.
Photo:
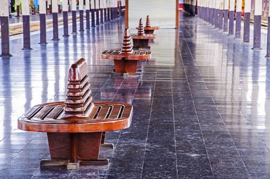
[[[86,29],[90,29],[90,11],[91,26],[103,24],[103,22],[113,20],[118,17],[117,2],[107,4],[106,0],[79,0],[79,31],[84,31],[84,13],[86,13]],[[2,53],[0,56],[5,57],[10,54],[9,40],[9,0],[4,0],[0,6],[1,36],[2,36]],[[68,0],[63,0],[63,25],[64,37],[69,36],[68,29]],[[122,7],[124,8],[124,7]],[[39,0],[39,20],[40,20],[40,44],[47,43],[46,37],[46,0]],[[72,11],[72,34],[77,33],[77,1],[71,0]],[[120,11],[119,11],[120,12]],[[100,13],[100,15],[99,15]],[[29,1],[22,0],[23,16],[23,50],[32,50],[30,42],[30,10]],[[96,17],[96,18],[95,18]],[[53,19],[53,39],[59,40],[58,34],[58,1],[52,0],[52,19]]]

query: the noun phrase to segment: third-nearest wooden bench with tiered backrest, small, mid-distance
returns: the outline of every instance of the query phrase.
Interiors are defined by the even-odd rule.
[[[142,19],[139,20],[139,27],[137,34],[131,34],[133,40],[133,49],[150,49],[148,42],[150,39],[155,39],[156,35],[154,34],[145,34],[142,25]]]

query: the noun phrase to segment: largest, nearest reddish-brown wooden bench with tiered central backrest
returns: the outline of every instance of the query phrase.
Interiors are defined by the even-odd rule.
[[[71,65],[67,99],[32,107],[18,119],[18,128],[47,132],[51,160],[40,166],[108,165],[99,159],[105,131],[128,128],[133,107],[127,103],[92,101],[88,66],[81,58]]]

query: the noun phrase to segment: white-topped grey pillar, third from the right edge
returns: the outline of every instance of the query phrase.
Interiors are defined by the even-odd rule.
[[[244,1],[244,42],[250,42],[251,0]]]

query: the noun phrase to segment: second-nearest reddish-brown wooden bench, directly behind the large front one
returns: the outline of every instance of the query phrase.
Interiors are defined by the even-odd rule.
[[[106,50],[101,53],[101,58],[114,60],[116,73],[140,74],[136,73],[139,60],[151,58],[150,50],[133,50],[131,47],[130,29],[124,29],[123,44],[121,50]]]

